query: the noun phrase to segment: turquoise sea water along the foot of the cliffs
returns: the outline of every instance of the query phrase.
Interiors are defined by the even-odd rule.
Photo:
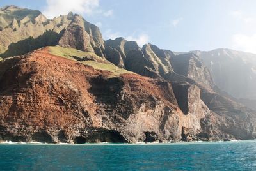
[[[0,144],[0,170],[256,170],[256,141]]]

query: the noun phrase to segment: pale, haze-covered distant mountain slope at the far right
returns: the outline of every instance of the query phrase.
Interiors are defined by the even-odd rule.
[[[256,55],[229,49],[196,51],[220,89],[235,98],[256,99]]]

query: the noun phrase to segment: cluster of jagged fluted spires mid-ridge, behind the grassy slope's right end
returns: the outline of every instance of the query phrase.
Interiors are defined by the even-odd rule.
[[[141,49],[136,42],[126,41],[124,38],[107,40],[105,45],[119,52],[126,70],[154,78],[173,72],[170,60],[174,54],[170,50],[161,50],[149,43]],[[113,61],[113,58],[119,58],[119,56],[108,58]],[[115,60],[120,61],[120,59]],[[119,65],[116,64],[116,66]]]

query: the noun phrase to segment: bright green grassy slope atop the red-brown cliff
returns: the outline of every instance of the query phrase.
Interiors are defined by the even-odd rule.
[[[114,64],[109,63],[105,59],[102,59],[101,57],[97,56],[92,52],[83,52],[80,50],[76,50],[74,48],[64,48],[60,46],[49,47],[49,52],[53,55],[65,57],[72,60],[76,60],[73,56],[79,57],[80,59],[83,59],[83,57],[93,58],[93,60],[80,61],[80,62],[83,64],[90,65],[96,70],[111,71],[111,73],[113,73],[113,76],[118,76],[123,73],[131,73],[130,71],[124,70],[122,68],[118,68]]]

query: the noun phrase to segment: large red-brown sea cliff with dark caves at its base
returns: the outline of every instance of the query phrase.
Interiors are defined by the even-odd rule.
[[[187,116],[172,86],[38,50],[0,63],[0,135],[20,142],[180,140]]]

